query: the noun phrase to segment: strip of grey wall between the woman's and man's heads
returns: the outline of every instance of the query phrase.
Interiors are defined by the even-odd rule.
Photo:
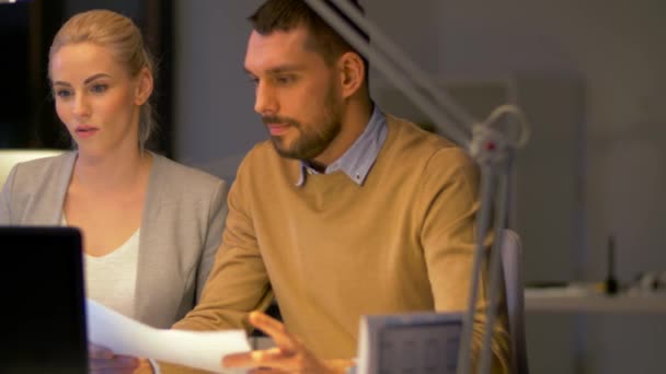
[[[176,1],[175,154],[232,179],[242,155],[265,138],[243,70],[250,25],[260,2]]]

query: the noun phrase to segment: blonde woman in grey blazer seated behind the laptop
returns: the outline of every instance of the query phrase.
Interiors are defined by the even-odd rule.
[[[76,148],[12,170],[0,224],[80,227],[88,297],[170,327],[208,277],[227,185],[145,149],[153,62],[129,19],[106,10],[72,16],[54,38],[48,72]]]

